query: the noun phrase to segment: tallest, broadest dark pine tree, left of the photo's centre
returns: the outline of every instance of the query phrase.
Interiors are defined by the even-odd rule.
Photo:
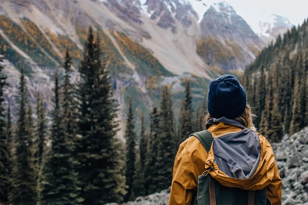
[[[118,140],[117,106],[112,95],[106,61],[100,59],[99,36],[94,39],[90,27],[80,62],[81,81],[77,138],[74,156],[78,161],[79,186],[84,205],[121,202],[125,193],[125,175]],[[102,194],[103,193],[103,194]]]

